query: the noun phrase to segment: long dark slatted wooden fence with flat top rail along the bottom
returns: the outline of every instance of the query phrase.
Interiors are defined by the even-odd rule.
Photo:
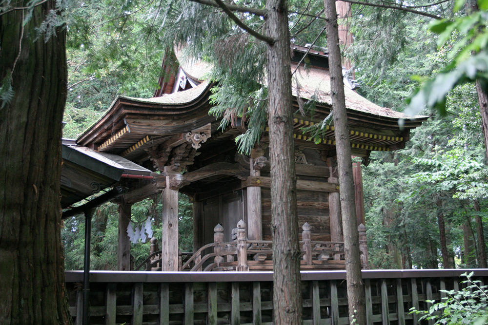
[[[364,270],[367,324],[417,324],[440,289],[467,270]],[[488,269],[474,269],[488,281]],[[349,324],[345,271],[302,271],[304,324]],[[66,271],[71,314],[81,324],[82,271]],[[271,325],[272,272],[90,272],[90,324]],[[427,324],[427,323],[426,323]]]

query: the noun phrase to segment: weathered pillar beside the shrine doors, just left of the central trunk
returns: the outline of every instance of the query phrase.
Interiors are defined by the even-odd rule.
[[[260,176],[266,158],[249,159],[250,175]],[[261,217],[261,187],[247,188],[247,236],[249,240],[263,240],[263,221]]]

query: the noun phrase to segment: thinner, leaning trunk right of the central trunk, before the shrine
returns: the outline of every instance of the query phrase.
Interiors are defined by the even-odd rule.
[[[341,214],[346,255],[347,302],[349,321],[366,324],[365,288],[361,276],[361,258],[357,231],[351,144],[347,130],[346,102],[342,76],[341,51],[337,31],[335,0],[324,0],[327,47],[329,51],[332,115],[335,127]]]

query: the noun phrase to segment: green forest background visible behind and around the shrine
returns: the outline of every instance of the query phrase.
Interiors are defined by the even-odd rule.
[[[311,1],[302,2],[290,3],[291,8],[306,8],[309,15],[290,18],[292,31],[307,26],[295,33],[292,41],[326,47],[324,21],[314,18],[323,14],[322,3],[314,7]],[[434,5],[410,2],[412,10],[453,17],[454,1]],[[153,96],[166,50],[163,44],[174,33],[161,23],[165,14],[161,2],[158,6],[154,0],[127,1],[123,8],[119,3],[114,7],[109,0],[78,4],[67,15],[69,91],[65,138],[76,138],[103,114],[117,94]],[[190,3],[183,8],[189,11],[185,15],[190,17],[195,6]],[[457,15],[465,13],[461,10]],[[193,13],[191,17],[195,16]],[[355,67],[355,78],[361,85],[358,92],[380,106],[402,111],[419,80],[439,72],[451,59],[450,53],[459,50],[456,46],[462,35],[457,33],[438,47],[438,35],[428,29],[433,20],[415,13],[353,4],[347,24],[354,42],[344,53]],[[183,27],[173,25],[177,28]],[[196,46],[195,51],[243,46],[255,56],[261,53],[260,45],[252,41],[244,45],[242,38],[220,42],[206,49],[205,45]],[[203,58],[211,61],[218,55]],[[217,100],[218,96],[225,94],[217,94]],[[410,133],[405,149],[372,153],[367,166],[363,165],[370,268],[486,267],[488,172],[474,83],[456,87],[446,104],[444,116],[424,112],[432,117]],[[161,216],[158,197],[132,207],[133,224],[150,217],[158,241]],[[92,269],[117,268],[117,224],[116,205],[106,204],[96,211]],[[192,251],[191,202],[183,194],[179,230],[180,249]],[[66,269],[83,266],[83,233],[83,216],[65,221],[62,240]],[[148,252],[148,240],[131,244],[134,265],[141,263]]]

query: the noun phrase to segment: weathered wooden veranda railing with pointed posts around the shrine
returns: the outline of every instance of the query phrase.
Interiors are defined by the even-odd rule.
[[[302,270],[334,270],[345,268],[344,242],[322,242],[311,240],[311,227],[302,227]],[[249,240],[245,223],[239,221],[235,230],[235,240],[224,242],[224,227],[214,228],[214,242],[198,249],[194,254],[180,253],[180,271],[266,271],[273,269],[273,243],[267,240]],[[234,231],[233,230],[233,231]],[[367,268],[366,227],[358,227],[361,263]],[[148,258],[135,270],[161,270],[161,250],[157,250],[155,240],[151,240]]]

